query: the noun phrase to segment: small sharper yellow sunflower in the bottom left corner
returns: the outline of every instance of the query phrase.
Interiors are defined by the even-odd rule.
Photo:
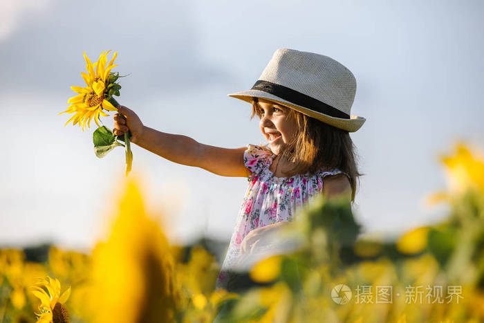
[[[32,293],[39,297],[41,304],[39,305],[40,313],[35,313],[39,316],[37,322],[39,323],[66,323],[69,322],[69,313],[67,307],[64,304],[69,295],[71,295],[71,287],[60,295],[60,282],[59,279],[52,279],[48,277],[47,279],[40,278],[39,282],[36,283],[38,286],[32,286]],[[44,286],[47,288],[48,293],[44,288],[39,286]]]

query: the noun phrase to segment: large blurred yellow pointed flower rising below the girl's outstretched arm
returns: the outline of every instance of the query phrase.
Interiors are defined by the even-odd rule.
[[[132,179],[108,240],[93,251],[92,266],[93,322],[174,320],[180,302],[174,257],[160,225],[145,214]]]

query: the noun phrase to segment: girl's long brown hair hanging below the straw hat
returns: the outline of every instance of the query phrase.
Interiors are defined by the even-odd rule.
[[[283,104],[274,102],[281,107]],[[290,175],[310,174],[314,175],[319,169],[337,168],[348,174],[351,184],[351,201],[355,201],[356,180],[360,180],[357,169],[356,147],[353,145],[348,131],[333,127],[330,124],[306,116],[295,109],[286,107],[288,118],[296,121],[297,136],[285,145],[281,151],[281,157],[295,163]],[[259,99],[252,98],[252,115],[261,118]],[[267,145],[263,149],[270,150]]]

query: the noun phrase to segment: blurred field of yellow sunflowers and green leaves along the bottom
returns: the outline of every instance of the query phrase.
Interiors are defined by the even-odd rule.
[[[440,223],[395,239],[361,234],[347,201],[322,196],[288,225],[299,248],[214,290],[202,245],[172,246],[127,181],[111,232],[89,255],[0,250],[0,322],[484,322],[484,158],[458,143]]]

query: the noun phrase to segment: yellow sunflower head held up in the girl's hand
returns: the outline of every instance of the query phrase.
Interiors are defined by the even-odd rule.
[[[84,52],[86,70],[88,73],[81,72],[81,75],[87,86],[71,86],[71,89],[73,89],[77,95],[68,100],[67,104],[71,105],[66,111],[59,113],[59,115],[62,113],[75,113],[75,115],[66,122],[64,127],[72,121],[73,125],[79,123],[79,126],[82,127],[82,131],[84,131],[86,122],[87,127],[91,127],[91,120],[93,118],[97,126],[100,127],[99,116],[109,116],[102,112],[102,109],[106,109],[107,111],[118,111],[111,102],[106,100],[105,96],[105,91],[109,88],[109,84],[107,84],[109,73],[113,67],[118,66],[117,64],[113,65],[114,59],[118,54],[116,52],[114,53],[111,62],[106,66],[107,55],[110,51],[111,50],[102,52],[99,59],[94,64],[91,63],[91,60]]]

